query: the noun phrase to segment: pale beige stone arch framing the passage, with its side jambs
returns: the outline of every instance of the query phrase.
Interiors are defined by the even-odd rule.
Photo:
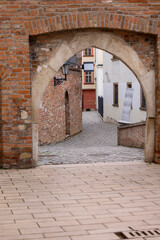
[[[67,43],[62,41],[47,64],[38,67],[32,85],[32,152],[33,165],[38,160],[38,112],[43,94],[53,76],[63,63],[77,52],[94,46],[117,56],[137,76],[147,103],[145,160],[154,159],[154,119],[155,119],[155,73],[148,71],[137,53],[126,42],[113,34],[103,32],[78,33]],[[45,81],[44,81],[45,80]]]

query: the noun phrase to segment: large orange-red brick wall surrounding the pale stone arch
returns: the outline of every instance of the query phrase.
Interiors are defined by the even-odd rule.
[[[54,39],[50,52],[45,54],[47,61],[62,39],[71,41],[73,30],[85,29],[113,32],[125,40],[129,39],[127,42],[137,51],[144,64],[149,69],[157,67],[155,160],[160,162],[159,1],[1,0],[0,166],[32,166],[31,79],[35,68],[30,66],[30,60],[33,63],[29,55],[31,38],[36,35],[45,38],[52,32],[56,38],[57,32],[62,31]],[[69,34],[66,36],[63,31]],[[43,54],[41,58],[35,55],[37,63],[43,62]],[[26,118],[22,117],[22,111],[27,113]]]

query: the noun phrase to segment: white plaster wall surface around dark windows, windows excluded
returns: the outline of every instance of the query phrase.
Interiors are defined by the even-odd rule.
[[[146,111],[140,110],[140,84],[132,71],[121,61],[112,61],[112,55],[103,52],[103,102],[104,102],[104,121],[121,119],[125,90],[128,82],[132,82],[134,89],[130,122],[140,122],[146,119]],[[113,106],[113,83],[119,85],[119,106]]]

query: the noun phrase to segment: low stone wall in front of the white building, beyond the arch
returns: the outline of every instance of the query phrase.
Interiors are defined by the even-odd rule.
[[[118,145],[144,148],[145,122],[118,126]]]

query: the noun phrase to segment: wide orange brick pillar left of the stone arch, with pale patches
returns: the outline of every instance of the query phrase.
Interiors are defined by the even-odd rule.
[[[1,81],[1,161],[3,168],[32,167],[31,83],[26,35],[5,39]]]

